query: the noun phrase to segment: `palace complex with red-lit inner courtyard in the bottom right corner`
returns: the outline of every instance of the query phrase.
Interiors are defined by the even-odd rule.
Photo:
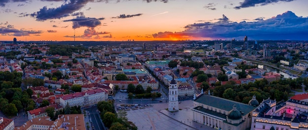
[[[264,100],[253,112],[251,130],[308,130],[308,102]]]

